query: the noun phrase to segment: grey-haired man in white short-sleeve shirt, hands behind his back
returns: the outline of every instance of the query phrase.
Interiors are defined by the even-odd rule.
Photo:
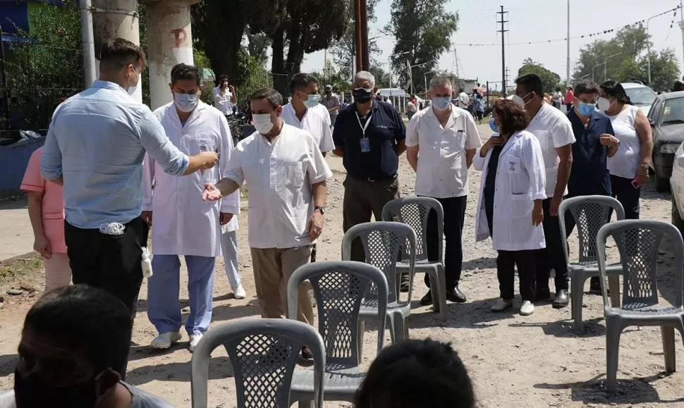
[[[475,151],[482,146],[472,115],[451,103],[451,80],[438,76],[430,82],[432,106],[411,118],[406,132],[408,162],[416,172],[415,194],[432,197],[444,209],[444,268],[446,299],[465,302],[458,289],[463,264],[462,233],[468,203],[468,168]],[[427,221],[427,257],[437,261],[437,218],[434,211]],[[425,274],[425,285],[430,287]],[[432,292],[420,304],[432,304]]]

